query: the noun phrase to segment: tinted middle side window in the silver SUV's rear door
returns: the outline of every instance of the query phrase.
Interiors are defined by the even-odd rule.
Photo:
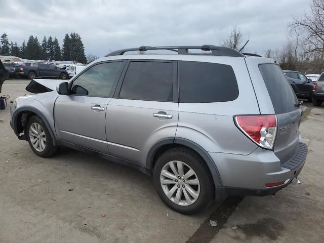
[[[119,98],[173,101],[173,62],[130,62]]]

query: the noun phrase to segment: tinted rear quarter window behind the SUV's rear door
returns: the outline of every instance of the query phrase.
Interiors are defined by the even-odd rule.
[[[180,61],[179,95],[182,103],[235,100],[238,87],[233,68],[225,64]]]

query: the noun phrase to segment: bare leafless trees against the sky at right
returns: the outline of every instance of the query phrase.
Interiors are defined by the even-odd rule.
[[[306,74],[324,71],[324,0],[312,0],[309,8],[309,12],[293,16],[287,24],[287,43],[261,54],[277,61],[282,70]],[[234,26],[221,46],[239,50],[246,43],[242,36],[241,29]]]

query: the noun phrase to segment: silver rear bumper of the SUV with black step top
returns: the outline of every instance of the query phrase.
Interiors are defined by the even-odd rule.
[[[299,142],[295,154],[284,163],[273,151],[257,148],[249,155],[210,153],[219,171],[222,188],[228,195],[269,195],[288,186],[300,174],[307,146]],[[267,183],[284,182],[266,187]]]

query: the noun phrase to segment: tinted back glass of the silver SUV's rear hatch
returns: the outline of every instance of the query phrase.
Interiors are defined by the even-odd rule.
[[[259,69],[275,113],[282,114],[297,109],[297,97],[280,67],[276,64],[260,64]]]

